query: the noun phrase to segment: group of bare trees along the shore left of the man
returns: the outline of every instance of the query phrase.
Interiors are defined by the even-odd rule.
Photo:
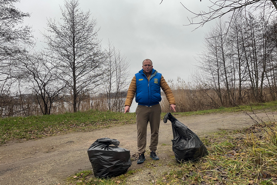
[[[46,46],[36,51],[31,27],[18,26],[30,16],[14,6],[18,1],[0,0],[1,117],[50,114],[64,104],[77,112],[98,92],[105,92],[109,110],[121,111],[129,61],[113,44],[101,47],[90,11],[65,1],[61,21],[47,19]]]

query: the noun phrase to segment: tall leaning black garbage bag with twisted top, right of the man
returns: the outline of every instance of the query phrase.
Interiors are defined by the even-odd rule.
[[[171,113],[167,113],[163,122],[171,121],[173,139],[172,150],[177,162],[196,160],[208,154],[207,148],[199,137],[186,125],[178,121]]]

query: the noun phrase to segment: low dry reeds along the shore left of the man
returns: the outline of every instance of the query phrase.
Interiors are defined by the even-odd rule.
[[[37,100],[34,98],[33,94],[24,95],[24,96],[9,96],[5,97],[5,101],[2,101],[0,97],[0,116],[1,117],[26,117],[26,116],[36,116],[42,115],[40,105]],[[124,110],[124,100],[122,98],[122,110]],[[112,99],[114,101],[114,99]],[[59,99],[52,103],[51,114],[62,114],[62,113],[72,113],[73,105],[72,105],[72,97],[65,96],[63,99]],[[43,102],[40,102],[43,105]],[[78,101],[77,104],[78,111],[86,111],[89,109],[95,109],[99,111],[107,111],[109,110],[109,106],[107,103],[107,97],[104,96],[93,96],[86,95],[82,96],[82,100]],[[121,111],[122,111],[121,110]],[[115,111],[112,109],[111,111]]]

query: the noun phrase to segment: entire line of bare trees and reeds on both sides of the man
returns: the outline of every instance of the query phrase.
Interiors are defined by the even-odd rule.
[[[122,111],[129,61],[111,42],[102,48],[91,13],[78,0],[65,1],[61,21],[47,20],[46,46],[36,51],[31,27],[18,26],[30,16],[16,9],[18,1],[0,0],[1,117]],[[276,100],[277,26],[271,13],[238,8],[206,33],[189,82],[168,80],[179,112]]]

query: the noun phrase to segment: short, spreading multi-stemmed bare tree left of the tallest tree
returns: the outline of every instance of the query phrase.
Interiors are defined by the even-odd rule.
[[[44,53],[34,53],[21,61],[19,71],[25,76],[26,86],[35,95],[41,113],[51,113],[53,103],[63,97],[65,83],[57,76],[57,68],[52,65],[51,57]]]

